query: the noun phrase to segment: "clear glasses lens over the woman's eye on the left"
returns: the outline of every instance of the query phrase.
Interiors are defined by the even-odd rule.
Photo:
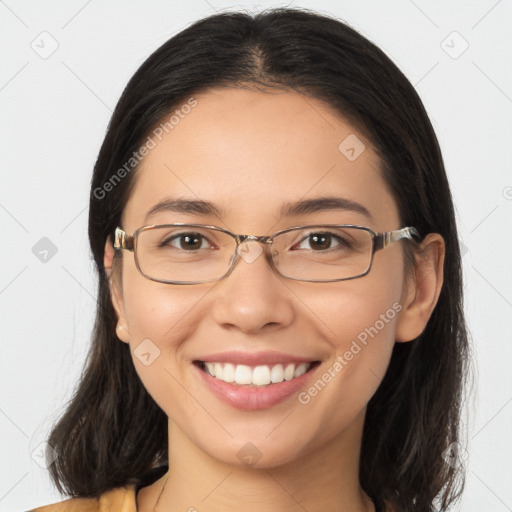
[[[139,232],[137,260],[157,281],[206,282],[229,269],[236,241],[226,233],[196,226],[158,226]]]

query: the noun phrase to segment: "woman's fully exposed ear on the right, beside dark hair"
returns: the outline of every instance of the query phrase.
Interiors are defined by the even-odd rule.
[[[445,244],[439,233],[429,233],[416,253],[413,275],[402,291],[395,340],[416,339],[427,326],[443,285]]]

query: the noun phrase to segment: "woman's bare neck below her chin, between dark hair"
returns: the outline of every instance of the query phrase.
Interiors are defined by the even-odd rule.
[[[154,510],[373,511],[358,476],[364,413],[320,450],[257,468],[211,457],[169,421],[169,471],[157,482]]]

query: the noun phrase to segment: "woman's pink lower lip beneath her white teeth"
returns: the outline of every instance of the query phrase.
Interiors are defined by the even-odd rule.
[[[267,409],[272,407],[298,392],[301,387],[309,380],[318,364],[308,372],[292,380],[284,380],[277,384],[270,384],[265,387],[239,386],[224,382],[223,380],[212,377],[203,371],[197,364],[192,365],[199,372],[201,379],[220,400],[246,411],[255,411],[258,409]]]

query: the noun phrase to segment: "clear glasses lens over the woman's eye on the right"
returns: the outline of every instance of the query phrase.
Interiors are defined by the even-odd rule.
[[[359,228],[308,226],[278,235],[274,262],[286,277],[331,281],[364,274],[371,262],[372,236]]]

